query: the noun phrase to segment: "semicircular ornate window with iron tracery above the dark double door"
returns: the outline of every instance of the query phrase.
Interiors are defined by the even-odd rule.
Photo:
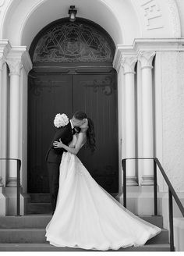
[[[34,50],[34,62],[112,62],[114,48],[101,30],[65,22],[46,30]]]

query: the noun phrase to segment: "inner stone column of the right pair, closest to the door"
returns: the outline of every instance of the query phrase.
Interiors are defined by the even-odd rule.
[[[134,55],[123,56],[122,67],[125,76],[125,105],[126,105],[126,158],[136,156],[136,114],[135,114],[135,65],[137,58]],[[136,161],[126,161],[127,186],[136,186]]]

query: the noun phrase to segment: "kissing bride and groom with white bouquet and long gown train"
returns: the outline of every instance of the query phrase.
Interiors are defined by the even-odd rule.
[[[84,144],[95,150],[94,123],[86,113],[58,114],[46,155],[52,218],[46,239],[56,247],[108,251],[141,246],[161,232],[111,197],[76,156]]]

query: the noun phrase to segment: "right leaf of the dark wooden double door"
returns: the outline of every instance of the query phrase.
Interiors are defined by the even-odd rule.
[[[82,148],[79,158],[108,192],[118,192],[118,119],[115,73],[73,76],[73,112],[83,110],[94,121],[97,149]]]

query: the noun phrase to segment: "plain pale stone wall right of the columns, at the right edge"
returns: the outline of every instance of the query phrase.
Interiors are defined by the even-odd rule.
[[[161,53],[162,163],[176,191],[184,187],[184,52]]]

